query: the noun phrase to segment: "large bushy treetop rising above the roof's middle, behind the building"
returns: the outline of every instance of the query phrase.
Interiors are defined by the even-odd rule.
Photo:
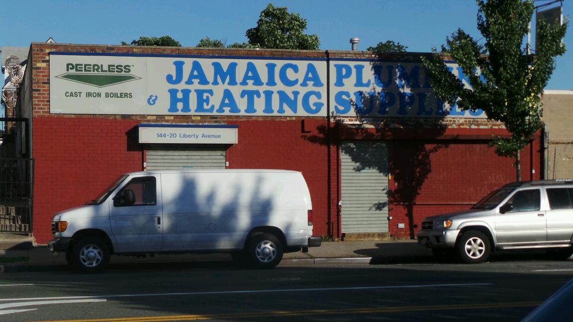
[[[319,49],[319,36],[304,34],[307,20],[272,3],[261,11],[257,26],[246,31],[249,44],[258,48]]]

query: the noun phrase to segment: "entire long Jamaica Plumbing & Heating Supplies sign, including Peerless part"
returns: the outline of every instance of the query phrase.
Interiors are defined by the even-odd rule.
[[[439,100],[421,62],[62,52],[50,52],[50,113],[486,117]]]

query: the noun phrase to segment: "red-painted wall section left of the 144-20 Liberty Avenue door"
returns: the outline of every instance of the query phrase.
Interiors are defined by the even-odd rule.
[[[33,119],[34,237],[51,239],[58,211],[84,205],[120,174],[142,170],[142,152],[128,151],[134,120]]]

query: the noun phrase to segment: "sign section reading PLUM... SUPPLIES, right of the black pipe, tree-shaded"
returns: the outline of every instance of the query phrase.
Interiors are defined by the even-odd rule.
[[[455,62],[450,72],[469,87]],[[331,114],[360,117],[479,117],[481,109],[462,111],[435,96],[421,62],[355,59],[329,61]]]

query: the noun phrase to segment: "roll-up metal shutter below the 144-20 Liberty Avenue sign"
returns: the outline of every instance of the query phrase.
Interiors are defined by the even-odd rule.
[[[146,150],[147,170],[224,169],[226,155],[218,147],[154,147]]]

